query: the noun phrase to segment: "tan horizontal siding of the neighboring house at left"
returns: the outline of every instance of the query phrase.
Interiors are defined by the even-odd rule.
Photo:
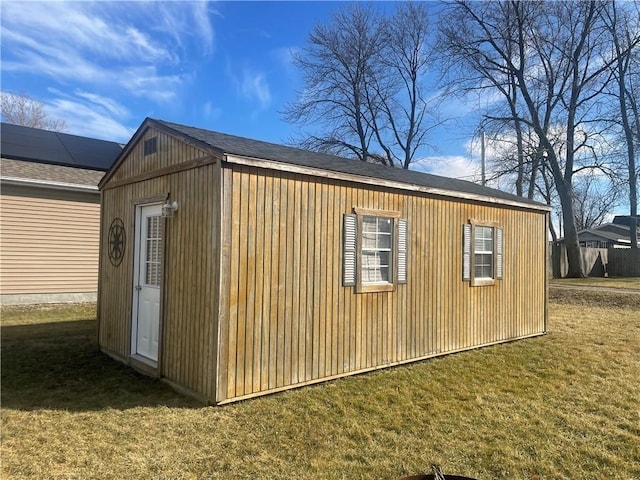
[[[0,294],[95,293],[98,202],[97,194],[3,186]]]

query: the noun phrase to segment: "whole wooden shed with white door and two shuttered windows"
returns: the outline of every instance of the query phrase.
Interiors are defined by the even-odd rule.
[[[505,192],[153,119],[100,189],[102,350],[210,403],[546,331]]]

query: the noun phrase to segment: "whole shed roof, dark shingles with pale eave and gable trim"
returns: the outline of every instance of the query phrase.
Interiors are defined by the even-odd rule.
[[[365,163],[358,160],[301,150],[299,148],[238,137],[152,118],[145,119],[114,164],[113,169],[103,178],[101,186],[108,182],[112,172],[115,171],[124,160],[128,149],[148,127],[154,127],[168,134],[183,138],[185,141],[195,143],[205,150],[215,151],[225,156],[225,159],[230,162],[235,161],[241,163],[242,158],[236,158],[237,156],[248,159],[248,164],[259,164],[259,166],[265,168],[292,172],[300,172],[304,169],[303,173],[311,175],[313,175],[314,172],[328,172],[329,175],[325,176],[346,178],[352,181],[363,181],[364,183],[373,185],[407,188],[437,195],[510,204],[536,210],[550,210],[547,205],[501,190],[483,187],[482,185],[465,180]],[[257,160],[257,162],[252,162],[251,159]],[[267,162],[260,162],[260,160],[266,160]],[[331,175],[331,173],[334,175]]]

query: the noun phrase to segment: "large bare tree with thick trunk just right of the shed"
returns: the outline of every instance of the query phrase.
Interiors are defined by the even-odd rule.
[[[544,159],[562,206],[570,277],[584,276],[573,177],[602,166],[592,122],[613,63],[601,21],[604,8],[601,2],[456,1],[441,26],[456,55],[449,61],[470,58],[483,66],[474,71],[485,85],[517,89],[512,113],[539,139],[544,155],[536,158]],[[464,48],[455,49],[457,43]]]

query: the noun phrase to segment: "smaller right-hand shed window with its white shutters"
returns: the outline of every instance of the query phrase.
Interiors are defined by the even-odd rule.
[[[468,223],[463,227],[462,279],[473,286],[502,279],[502,228]]]

